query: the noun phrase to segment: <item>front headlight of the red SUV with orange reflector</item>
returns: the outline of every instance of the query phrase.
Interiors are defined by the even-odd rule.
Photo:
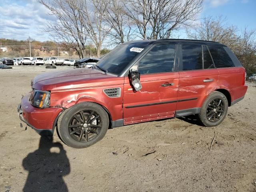
[[[29,102],[32,106],[37,108],[47,108],[50,105],[50,92],[33,90]]]

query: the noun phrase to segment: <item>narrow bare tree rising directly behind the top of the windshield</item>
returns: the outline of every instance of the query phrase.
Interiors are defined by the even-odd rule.
[[[121,0],[110,0],[105,14],[105,22],[111,28],[108,33],[110,45],[122,44],[134,38],[132,24],[124,12]]]

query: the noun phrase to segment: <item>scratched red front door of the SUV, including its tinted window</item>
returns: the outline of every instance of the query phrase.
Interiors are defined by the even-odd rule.
[[[132,67],[140,72],[142,89],[134,92],[129,78],[124,78],[124,124],[174,116],[179,77],[174,63],[177,62],[175,44],[158,44]]]

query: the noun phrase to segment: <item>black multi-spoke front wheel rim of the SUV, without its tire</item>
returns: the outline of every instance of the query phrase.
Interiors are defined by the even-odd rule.
[[[93,110],[81,110],[68,123],[69,133],[78,142],[94,139],[101,130],[102,119]]]

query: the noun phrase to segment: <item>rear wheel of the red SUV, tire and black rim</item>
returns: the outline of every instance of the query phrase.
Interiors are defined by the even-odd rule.
[[[204,101],[198,114],[200,121],[206,127],[218,126],[228,113],[228,100],[218,91],[212,92]]]

